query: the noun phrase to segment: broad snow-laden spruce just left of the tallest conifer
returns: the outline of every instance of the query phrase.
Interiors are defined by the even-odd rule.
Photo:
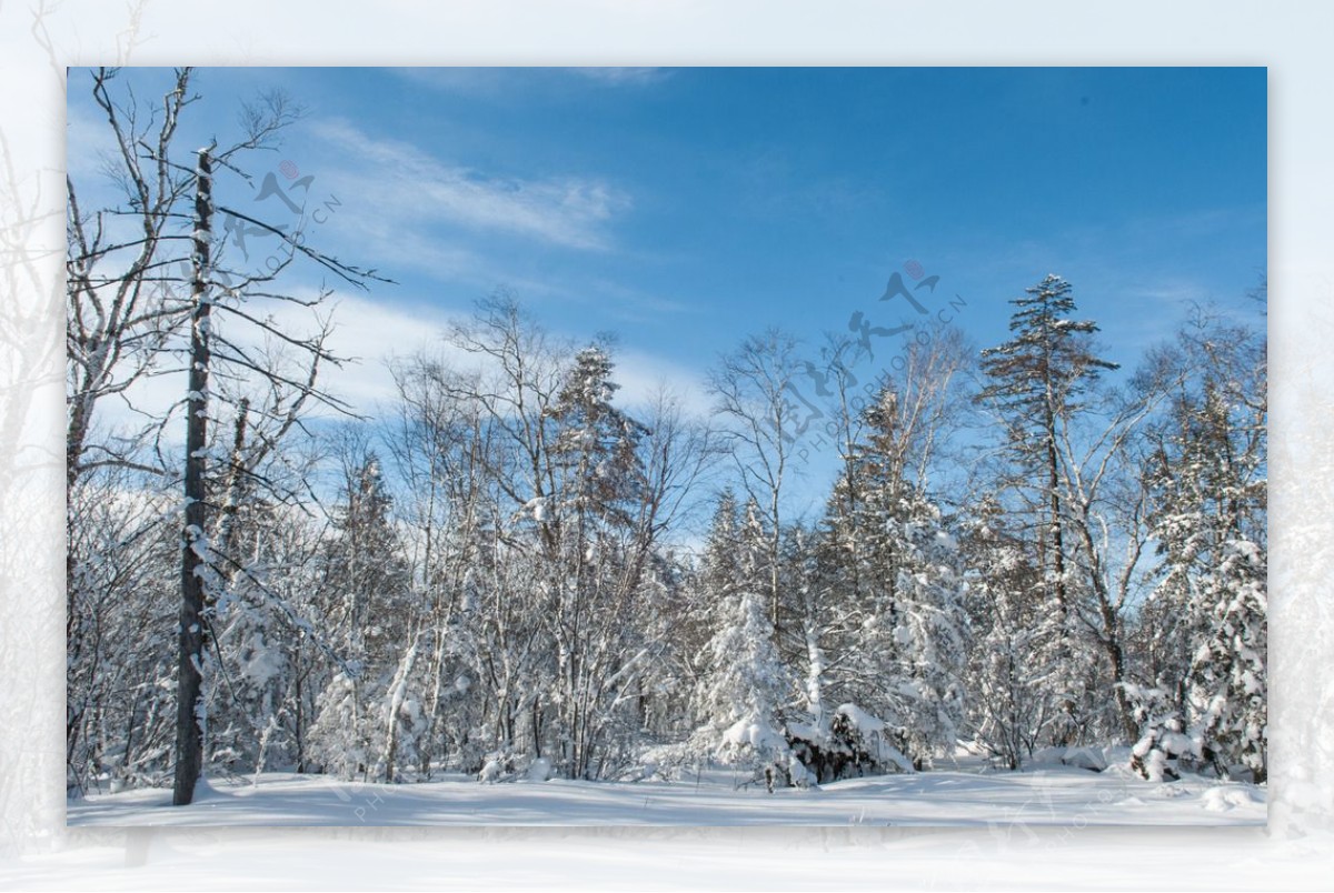
[[[954,745],[963,720],[967,586],[939,508],[904,477],[898,400],[886,387],[866,409],[830,500],[827,553],[844,564],[834,598],[854,620],[835,656],[839,689],[898,729],[895,745],[923,768]]]

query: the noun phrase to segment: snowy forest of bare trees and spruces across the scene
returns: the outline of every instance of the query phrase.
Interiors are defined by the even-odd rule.
[[[117,148],[109,199],[68,183],[72,798],[710,766],[763,792],[1118,746],[1149,781],[1265,782],[1262,273],[1249,319],[1198,307],[1149,349],[1046,269],[978,296],[1010,303],[984,343],[922,321],[872,361],[762,327],[710,413],[624,400],[614,336],[502,292],[354,407],[331,297],[394,271],[227,197],[296,109],[187,148],[188,69],[89,80]]]

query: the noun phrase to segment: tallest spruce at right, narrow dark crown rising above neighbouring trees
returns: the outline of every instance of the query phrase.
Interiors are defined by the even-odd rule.
[[[1033,520],[1038,562],[1047,589],[1049,624],[1042,645],[1047,694],[1058,704],[1059,722],[1051,725],[1054,744],[1079,740],[1090,721],[1095,698],[1090,669],[1095,665],[1083,628],[1079,582],[1074,578],[1062,486],[1061,443],[1071,421],[1085,409],[1081,396],[1103,369],[1118,365],[1099,359],[1091,344],[1097,324],[1074,319],[1071,287],[1046,276],[1026,296],[1011,301],[1013,337],[982,352],[988,379],[976,401],[990,408],[1006,432],[1006,448],[1015,468],[1011,510]]]

